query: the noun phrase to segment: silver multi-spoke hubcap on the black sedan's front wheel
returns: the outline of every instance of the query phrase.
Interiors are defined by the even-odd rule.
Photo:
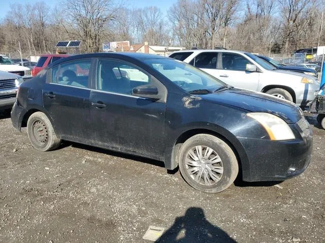
[[[205,186],[216,184],[223,174],[221,158],[207,146],[195,146],[188,150],[185,167],[187,174],[194,181]]]

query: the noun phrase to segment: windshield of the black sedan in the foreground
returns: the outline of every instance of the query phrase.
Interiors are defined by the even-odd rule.
[[[145,59],[144,62],[189,93],[211,93],[228,87],[219,79],[179,60],[156,58]]]

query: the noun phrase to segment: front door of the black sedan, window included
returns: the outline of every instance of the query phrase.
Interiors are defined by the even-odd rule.
[[[136,73],[136,75],[135,75]],[[164,153],[166,99],[132,95],[132,89],[165,86],[141,68],[118,59],[99,59],[90,93],[92,140],[115,150],[161,159]]]

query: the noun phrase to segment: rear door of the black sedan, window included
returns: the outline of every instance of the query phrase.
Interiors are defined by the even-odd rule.
[[[43,88],[43,105],[55,131],[63,139],[88,141],[90,116],[90,75],[76,73],[77,66],[91,69],[91,59],[61,63],[48,72]],[[91,73],[88,71],[88,73]]]

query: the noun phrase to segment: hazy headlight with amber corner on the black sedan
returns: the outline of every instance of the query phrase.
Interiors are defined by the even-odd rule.
[[[286,122],[276,115],[254,112],[247,113],[247,116],[257,120],[267,131],[271,140],[291,140],[296,138]]]

